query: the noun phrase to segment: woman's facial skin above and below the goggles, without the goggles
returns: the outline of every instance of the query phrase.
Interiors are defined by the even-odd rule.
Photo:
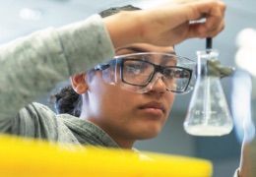
[[[116,55],[136,52],[171,52],[173,47],[133,44],[116,50]],[[101,73],[88,82],[84,95],[86,118],[115,140],[142,140],[157,136],[170,112],[174,93],[159,79],[145,93],[132,92],[103,82]]]

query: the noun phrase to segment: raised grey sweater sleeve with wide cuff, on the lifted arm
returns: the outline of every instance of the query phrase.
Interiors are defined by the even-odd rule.
[[[32,100],[113,55],[113,45],[98,15],[1,46],[0,132],[10,129],[11,119]]]

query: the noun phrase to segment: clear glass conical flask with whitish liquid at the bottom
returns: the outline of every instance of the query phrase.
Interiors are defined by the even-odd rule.
[[[209,61],[218,60],[217,50],[197,52],[197,81],[189,104],[184,129],[195,136],[222,136],[233,124],[220,76],[209,71]]]

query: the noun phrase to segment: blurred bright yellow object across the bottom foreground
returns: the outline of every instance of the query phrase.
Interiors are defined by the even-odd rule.
[[[178,155],[81,148],[0,137],[1,177],[209,177],[211,162]]]

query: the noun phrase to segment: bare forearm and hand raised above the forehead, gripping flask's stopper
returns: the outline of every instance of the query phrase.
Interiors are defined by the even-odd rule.
[[[105,18],[104,23],[113,45],[118,47],[135,42],[177,44],[191,37],[213,37],[224,29],[225,5],[222,1],[183,1],[189,2],[150,10],[123,12]],[[206,22],[189,24],[201,18],[205,18]]]

